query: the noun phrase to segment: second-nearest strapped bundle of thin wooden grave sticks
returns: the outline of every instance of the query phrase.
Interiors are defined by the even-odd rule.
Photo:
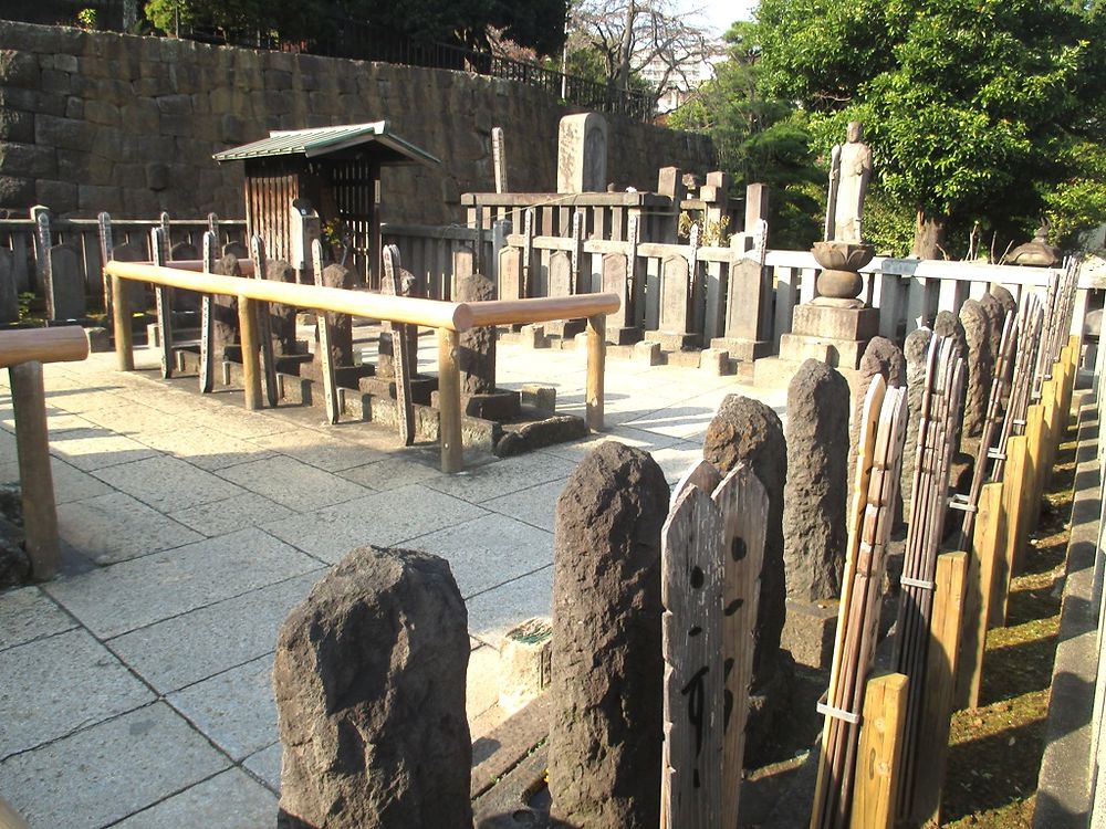
[[[964,363],[954,340],[935,338],[922,402],[915,468],[915,508],[907,533],[902,563],[902,592],[896,621],[894,670],[910,678],[905,735],[904,778],[899,789],[900,817],[908,816],[914,778],[926,657],[933,610],[933,579],[938,546],[943,535],[948,503],[953,431],[963,411]]]

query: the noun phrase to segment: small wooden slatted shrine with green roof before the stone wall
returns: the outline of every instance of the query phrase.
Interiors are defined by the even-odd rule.
[[[388,122],[275,130],[216,153],[219,162],[246,162],[247,232],[265,241],[310,281],[311,240],[347,256],[367,284],[379,282],[380,169],[441,161],[389,128]]]

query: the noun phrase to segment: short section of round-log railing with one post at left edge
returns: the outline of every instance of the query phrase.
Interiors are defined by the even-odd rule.
[[[42,364],[87,356],[88,338],[75,326],[0,332],[0,368],[7,368],[11,378],[23,533],[35,581],[53,578],[61,555]]]

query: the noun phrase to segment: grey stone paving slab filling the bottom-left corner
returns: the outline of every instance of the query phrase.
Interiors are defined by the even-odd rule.
[[[0,791],[33,829],[93,829],[229,765],[158,702],[0,762]]]

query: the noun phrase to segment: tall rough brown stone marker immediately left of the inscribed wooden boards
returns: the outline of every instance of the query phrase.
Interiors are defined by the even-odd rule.
[[[664,472],[615,441],[584,458],[557,499],[549,785],[552,814],[573,826],[659,825],[667,513]]]

